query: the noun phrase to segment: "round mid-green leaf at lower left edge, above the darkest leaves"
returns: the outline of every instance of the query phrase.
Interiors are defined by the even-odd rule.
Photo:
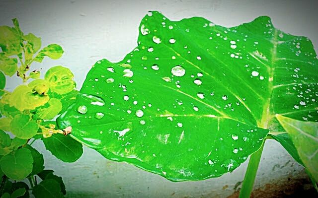
[[[0,159],[2,172],[12,180],[22,180],[32,172],[33,158],[26,148],[5,155]]]

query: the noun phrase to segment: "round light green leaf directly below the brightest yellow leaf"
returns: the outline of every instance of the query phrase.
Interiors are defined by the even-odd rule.
[[[11,132],[21,139],[29,139],[38,131],[38,124],[28,115],[16,115],[11,121]]]

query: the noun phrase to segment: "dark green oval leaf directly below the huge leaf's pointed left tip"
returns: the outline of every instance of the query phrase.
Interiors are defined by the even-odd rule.
[[[75,162],[83,154],[81,143],[62,134],[54,134],[42,139],[45,148],[64,162]]]

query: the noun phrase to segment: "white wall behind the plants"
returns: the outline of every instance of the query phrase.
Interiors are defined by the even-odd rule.
[[[42,38],[43,46],[57,43],[65,54],[60,60],[45,59],[32,67],[63,65],[75,73],[78,88],[96,61],[118,62],[137,45],[138,26],[149,10],[159,10],[171,20],[202,16],[223,26],[236,26],[260,15],[272,18],[275,27],[309,37],[317,51],[317,6],[296,0],[0,0],[0,25],[16,17],[22,31]],[[7,79],[12,90],[19,79]],[[227,197],[242,181],[247,162],[231,174],[199,182],[172,183],[126,163],[112,162],[92,149],[72,164],[59,161],[38,141],[46,168],[63,176],[68,197]],[[305,177],[304,170],[273,140],[266,141],[255,188],[267,183]],[[229,187],[223,190],[223,187]]]

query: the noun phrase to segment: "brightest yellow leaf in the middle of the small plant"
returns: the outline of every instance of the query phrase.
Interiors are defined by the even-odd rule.
[[[19,111],[33,110],[49,101],[49,96],[32,92],[32,88],[26,85],[17,86],[10,96],[10,106]]]

